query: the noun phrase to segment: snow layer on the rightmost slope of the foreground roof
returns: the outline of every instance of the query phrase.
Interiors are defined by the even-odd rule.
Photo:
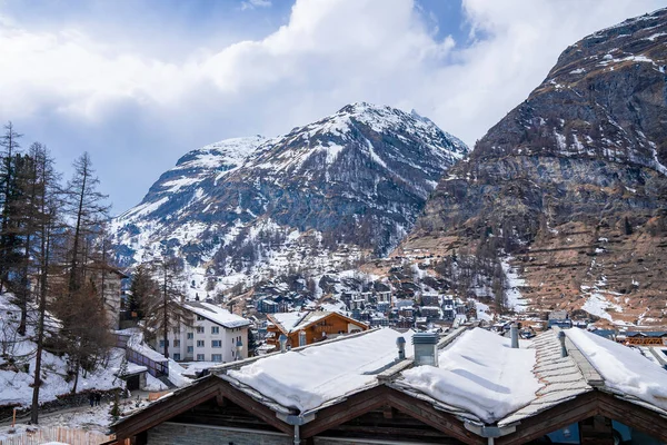
[[[600,373],[605,386],[667,409],[667,370],[636,349],[584,329],[564,332]]]

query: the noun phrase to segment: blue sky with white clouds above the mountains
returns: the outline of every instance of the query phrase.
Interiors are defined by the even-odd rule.
[[[469,146],[569,44],[667,0],[0,0],[0,122],[113,212],[189,150],[367,101]]]

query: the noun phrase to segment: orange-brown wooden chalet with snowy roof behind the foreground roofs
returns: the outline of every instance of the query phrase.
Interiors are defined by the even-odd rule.
[[[302,313],[283,313],[268,316],[267,344],[279,346],[280,335],[287,337],[290,347],[302,346],[303,340],[310,345],[339,335],[368,329],[368,325],[337,312],[312,310]],[[303,333],[303,337],[299,334]],[[301,334],[302,335],[302,334]]]

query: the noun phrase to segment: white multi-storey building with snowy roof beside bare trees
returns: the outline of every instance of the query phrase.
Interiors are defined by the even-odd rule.
[[[235,362],[248,357],[250,320],[216,305],[200,301],[182,304],[192,313],[191,326],[185,324],[178,332],[169,332],[169,357],[177,362]],[[241,344],[240,357],[237,345]],[[165,353],[163,340],[156,340],[156,349]]]

